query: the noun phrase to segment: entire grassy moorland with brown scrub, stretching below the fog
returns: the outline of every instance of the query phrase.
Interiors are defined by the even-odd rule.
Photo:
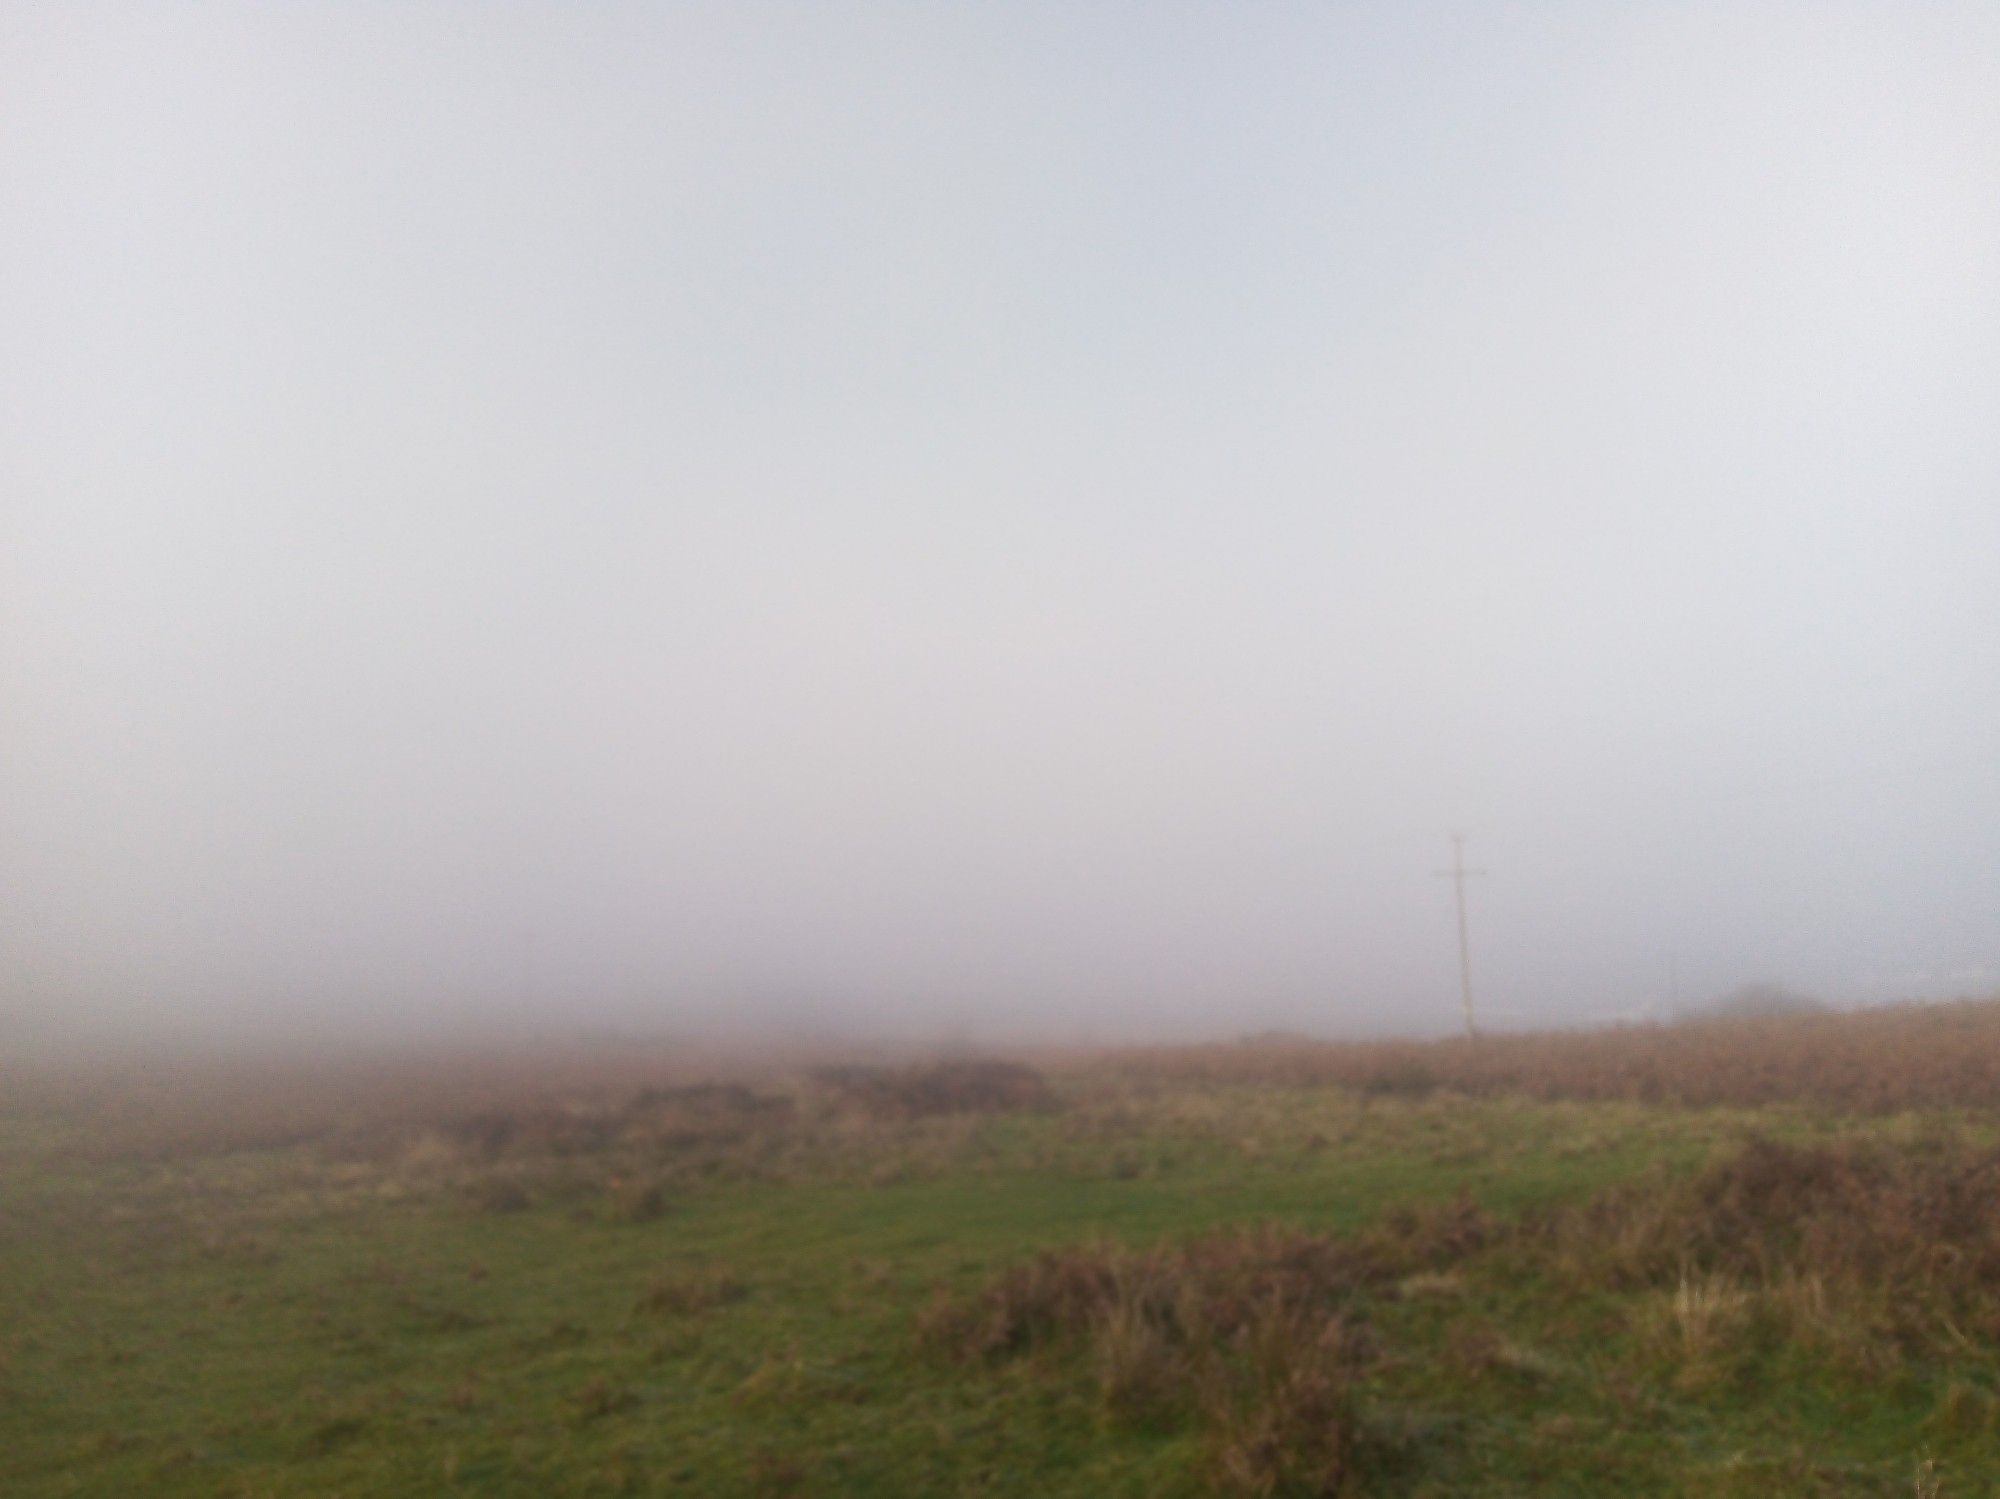
[[[0,1493],[2000,1489],[1990,1113],[1658,1045],[18,1081]]]

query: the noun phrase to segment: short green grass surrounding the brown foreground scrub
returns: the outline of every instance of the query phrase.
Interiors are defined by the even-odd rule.
[[[1520,1213],[1862,1127],[1976,1125],[1186,1087],[718,1171],[634,1223],[588,1183],[490,1213],[394,1161],[104,1161],[4,1119],[0,1493],[1192,1495],[1196,1431],[1106,1419],[1078,1359],[926,1355],[926,1303],[1092,1237],[1348,1231],[1458,1191]],[[700,1275],[742,1295],[648,1307]],[[2000,1487],[1990,1337],[1862,1377],[1744,1335],[1690,1371],[1660,1295],[1498,1263],[1384,1299],[1374,1491],[1910,1495],[1922,1459]]]

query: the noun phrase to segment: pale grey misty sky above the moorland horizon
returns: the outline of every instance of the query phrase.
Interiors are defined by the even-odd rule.
[[[0,1035],[2000,987],[2000,8],[0,10]]]

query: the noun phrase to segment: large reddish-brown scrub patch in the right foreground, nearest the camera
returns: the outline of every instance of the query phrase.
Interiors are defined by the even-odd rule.
[[[1394,1445],[1358,1415],[1370,1371],[1394,1365],[1376,1353],[1372,1313],[1436,1299],[1464,1377],[1552,1385],[1574,1375],[1570,1361],[1470,1301],[1472,1283],[1552,1273],[1624,1293],[1612,1327],[1684,1393],[1744,1387],[1774,1357],[1874,1379],[1920,1353],[2000,1341],[2000,1151],[1752,1141],[1694,1175],[1518,1221],[1460,1199],[1352,1235],[1272,1225],[1080,1245],[940,1297],[920,1341],[970,1363],[1082,1359],[1112,1419],[1198,1423],[1218,1489],[1336,1493],[1362,1455]],[[1986,1431],[1994,1411],[2000,1401],[1968,1387],[1932,1423]]]

